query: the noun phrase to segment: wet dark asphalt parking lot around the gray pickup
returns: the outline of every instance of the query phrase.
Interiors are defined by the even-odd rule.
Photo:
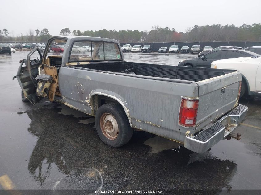
[[[12,77],[28,52],[0,54],[0,189],[261,189],[261,100],[240,100],[249,107],[236,128],[241,140],[204,154],[146,132],[110,148],[93,117],[47,99],[21,101]],[[169,65],[196,56],[124,53],[126,61]]]

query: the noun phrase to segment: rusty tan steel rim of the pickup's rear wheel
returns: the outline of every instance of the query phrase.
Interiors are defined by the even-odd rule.
[[[115,140],[119,133],[116,119],[110,113],[103,113],[100,118],[100,127],[103,135],[109,140]]]

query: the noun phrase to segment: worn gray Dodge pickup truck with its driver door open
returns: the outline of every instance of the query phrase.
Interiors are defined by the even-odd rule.
[[[139,130],[203,153],[233,137],[246,115],[248,108],[238,104],[238,71],[126,62],[113,39],[52,37],[47,48],[55,43],[65,43],[63,53],[42,55],[34,47],[20,60],[15,77],[23,100],[36,104],[48,96],[95,116],[99,137],[111,147]],[[94,50],[77,53],[73,46]]]

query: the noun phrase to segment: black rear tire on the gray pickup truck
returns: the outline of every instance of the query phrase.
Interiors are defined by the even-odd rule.
[[[118,133],[116,138],[108,138],[109,135],[104,131],[106,122],[104,122],[103,117],[104,115],[109,114],[114,117],[116,123],[118,125]],[[107,115],[108,116],[108,115]],[[107,117],[106,116],[106,117]],[[106,119],[105,117],[105,119]],[[109,120],[107,120],[109,121]],[[110,123],[112,124],[112,123]],[[95,125],[97,133],[100,139],[107,145],[118,148],[127,144],[132,137],[133,130],[129,124],[129,120],[124,112],[124,109],[121,107],[120,104],[116,102],[110,102],[107,104],[103,104],[96,112],[95,115]],[[107,125],[107,124],[106,124]],[[102,127],[101,127],[102,126]],[[111,128],[111,126],[110,126]],[[113,127],[114,129],[114,127]],[[107,134],[107,135],[106,135]]]

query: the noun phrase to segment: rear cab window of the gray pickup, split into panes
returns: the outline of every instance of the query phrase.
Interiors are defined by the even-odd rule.
[[[118,44],[100,41],[75,41],[69,62],[122,60]]]

